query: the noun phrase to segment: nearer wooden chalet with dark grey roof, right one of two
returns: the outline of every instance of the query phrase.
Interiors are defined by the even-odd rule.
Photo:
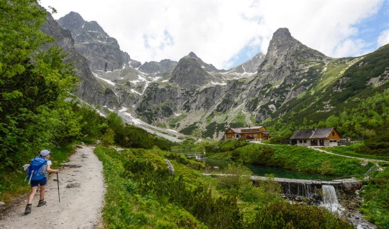
[[[296,130],[290,137],[290,144],[297,146],[344,146],[349,139],[342,139],[336,128],[311,128]]]

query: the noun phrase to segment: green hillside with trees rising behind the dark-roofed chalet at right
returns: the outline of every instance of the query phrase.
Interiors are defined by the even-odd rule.
[[[265,125],[275,134],[333,126],[342,135],[371,137],[358,128],[375,131],[388,122],[389,45],[357,59],[344,73],[344,60],[338,60],[337,65],[334,60],[311,92],[288,101]]]

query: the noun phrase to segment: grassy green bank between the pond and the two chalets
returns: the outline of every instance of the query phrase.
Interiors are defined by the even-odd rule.
[[[266,148],[271,149],[273,153],[263,155],[263,151]],[[256,143],[240,147],[233,151],[217,153],[210,158],[230,160],[234,152],[238,152],[240,160],[246,163],[338,177],[363,176],[363,173],[372,166],[372,163],[370,163],[369,166],[362,167],[359,164],[361,160],[322,153],[306,147],[288,145],[263,146]],[[258,156],[259,158],[257,160],[252,160],[252,158]]]

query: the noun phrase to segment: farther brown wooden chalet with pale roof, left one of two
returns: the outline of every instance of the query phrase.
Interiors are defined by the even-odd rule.
[[[245,138],[247,140],[262,141],[269,139],[269,133],[265,126],[249,126],[242,128],[229,128],[226,130],[225,139],[240,139]]]

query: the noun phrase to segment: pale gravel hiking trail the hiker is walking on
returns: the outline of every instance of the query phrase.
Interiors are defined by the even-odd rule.
[[[103,228],[101,208],[104,205],[102,164],[92,146],[77,146],[69,162],[62,164],[59,176],[60,203],[56,174],[48,178],[44,200],[37,207],[39,188],[31,214],[24,214],[28,195],[12,203],[0,219],[0,228]],[[55,154],[53,155],[55,157]]]

